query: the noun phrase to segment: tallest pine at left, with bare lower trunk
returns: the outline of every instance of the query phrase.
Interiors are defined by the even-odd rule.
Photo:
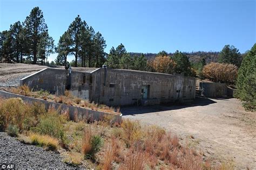
[[[38,46],[47,32],[48,27],[45,24],[43,12],[39,7],[35,7],[31,10],[30,15],[26,17],[24,21],[24,27],[26,30],[26,35],[28,36],[28,44],[30,49],[30,54],[32,55],[32,63],[37,63]]]

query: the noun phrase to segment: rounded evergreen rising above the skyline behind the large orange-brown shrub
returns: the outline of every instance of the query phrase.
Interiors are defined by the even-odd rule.
[[[238,67],[241,65],[241,59],[239,50],[233,45],[225,45],[218,56],[219,63],[234,64]]]

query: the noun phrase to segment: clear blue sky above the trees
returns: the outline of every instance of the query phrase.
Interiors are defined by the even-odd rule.
[[[0,0],[0,31],[39,6],[56,45],[79,14],[102,33],[106,52],[120,43],[129,52],[220,51],[226,44],[245,52],[256,42],[255,2]]]

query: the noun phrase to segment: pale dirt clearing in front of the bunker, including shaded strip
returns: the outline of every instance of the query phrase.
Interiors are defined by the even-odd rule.
[[[238,99],[197,98],[188,106],[122,108],[124,118],[156,124],[176,133],[207,159],[232,161],[235,168],[256,169],[256,114]]]

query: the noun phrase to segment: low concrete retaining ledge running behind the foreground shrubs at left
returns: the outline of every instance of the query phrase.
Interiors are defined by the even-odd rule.
[[[111,113],[94,111],[94,110],[90,110],[90,109],[86,109],[86,108],[80,108],[80,107],[55,103],[52,101],[35,99],[32,97],[22,96],[19,94],[9,93],[9,92],[5,92],[5,91],[0,91],[0,98],[5,98],[5,99],[21,98],[25,103],[29,103],[29,104],[35,103],[35,102],[43,103],[45,105],[46,109],[48,109],[49,107],[54,107],[56,110],[59,109],[59,111],[68,110],[71,120],[74,120],[75,117],[77,116],[78,118],[87,119],[90,121],[99,121],[99,120],[102,120],[104,117],[111,117],[113,123],[114,122],[121,123],[121,121],[122,121],[122,114],[115,115],[115,114],[111,114]]]

